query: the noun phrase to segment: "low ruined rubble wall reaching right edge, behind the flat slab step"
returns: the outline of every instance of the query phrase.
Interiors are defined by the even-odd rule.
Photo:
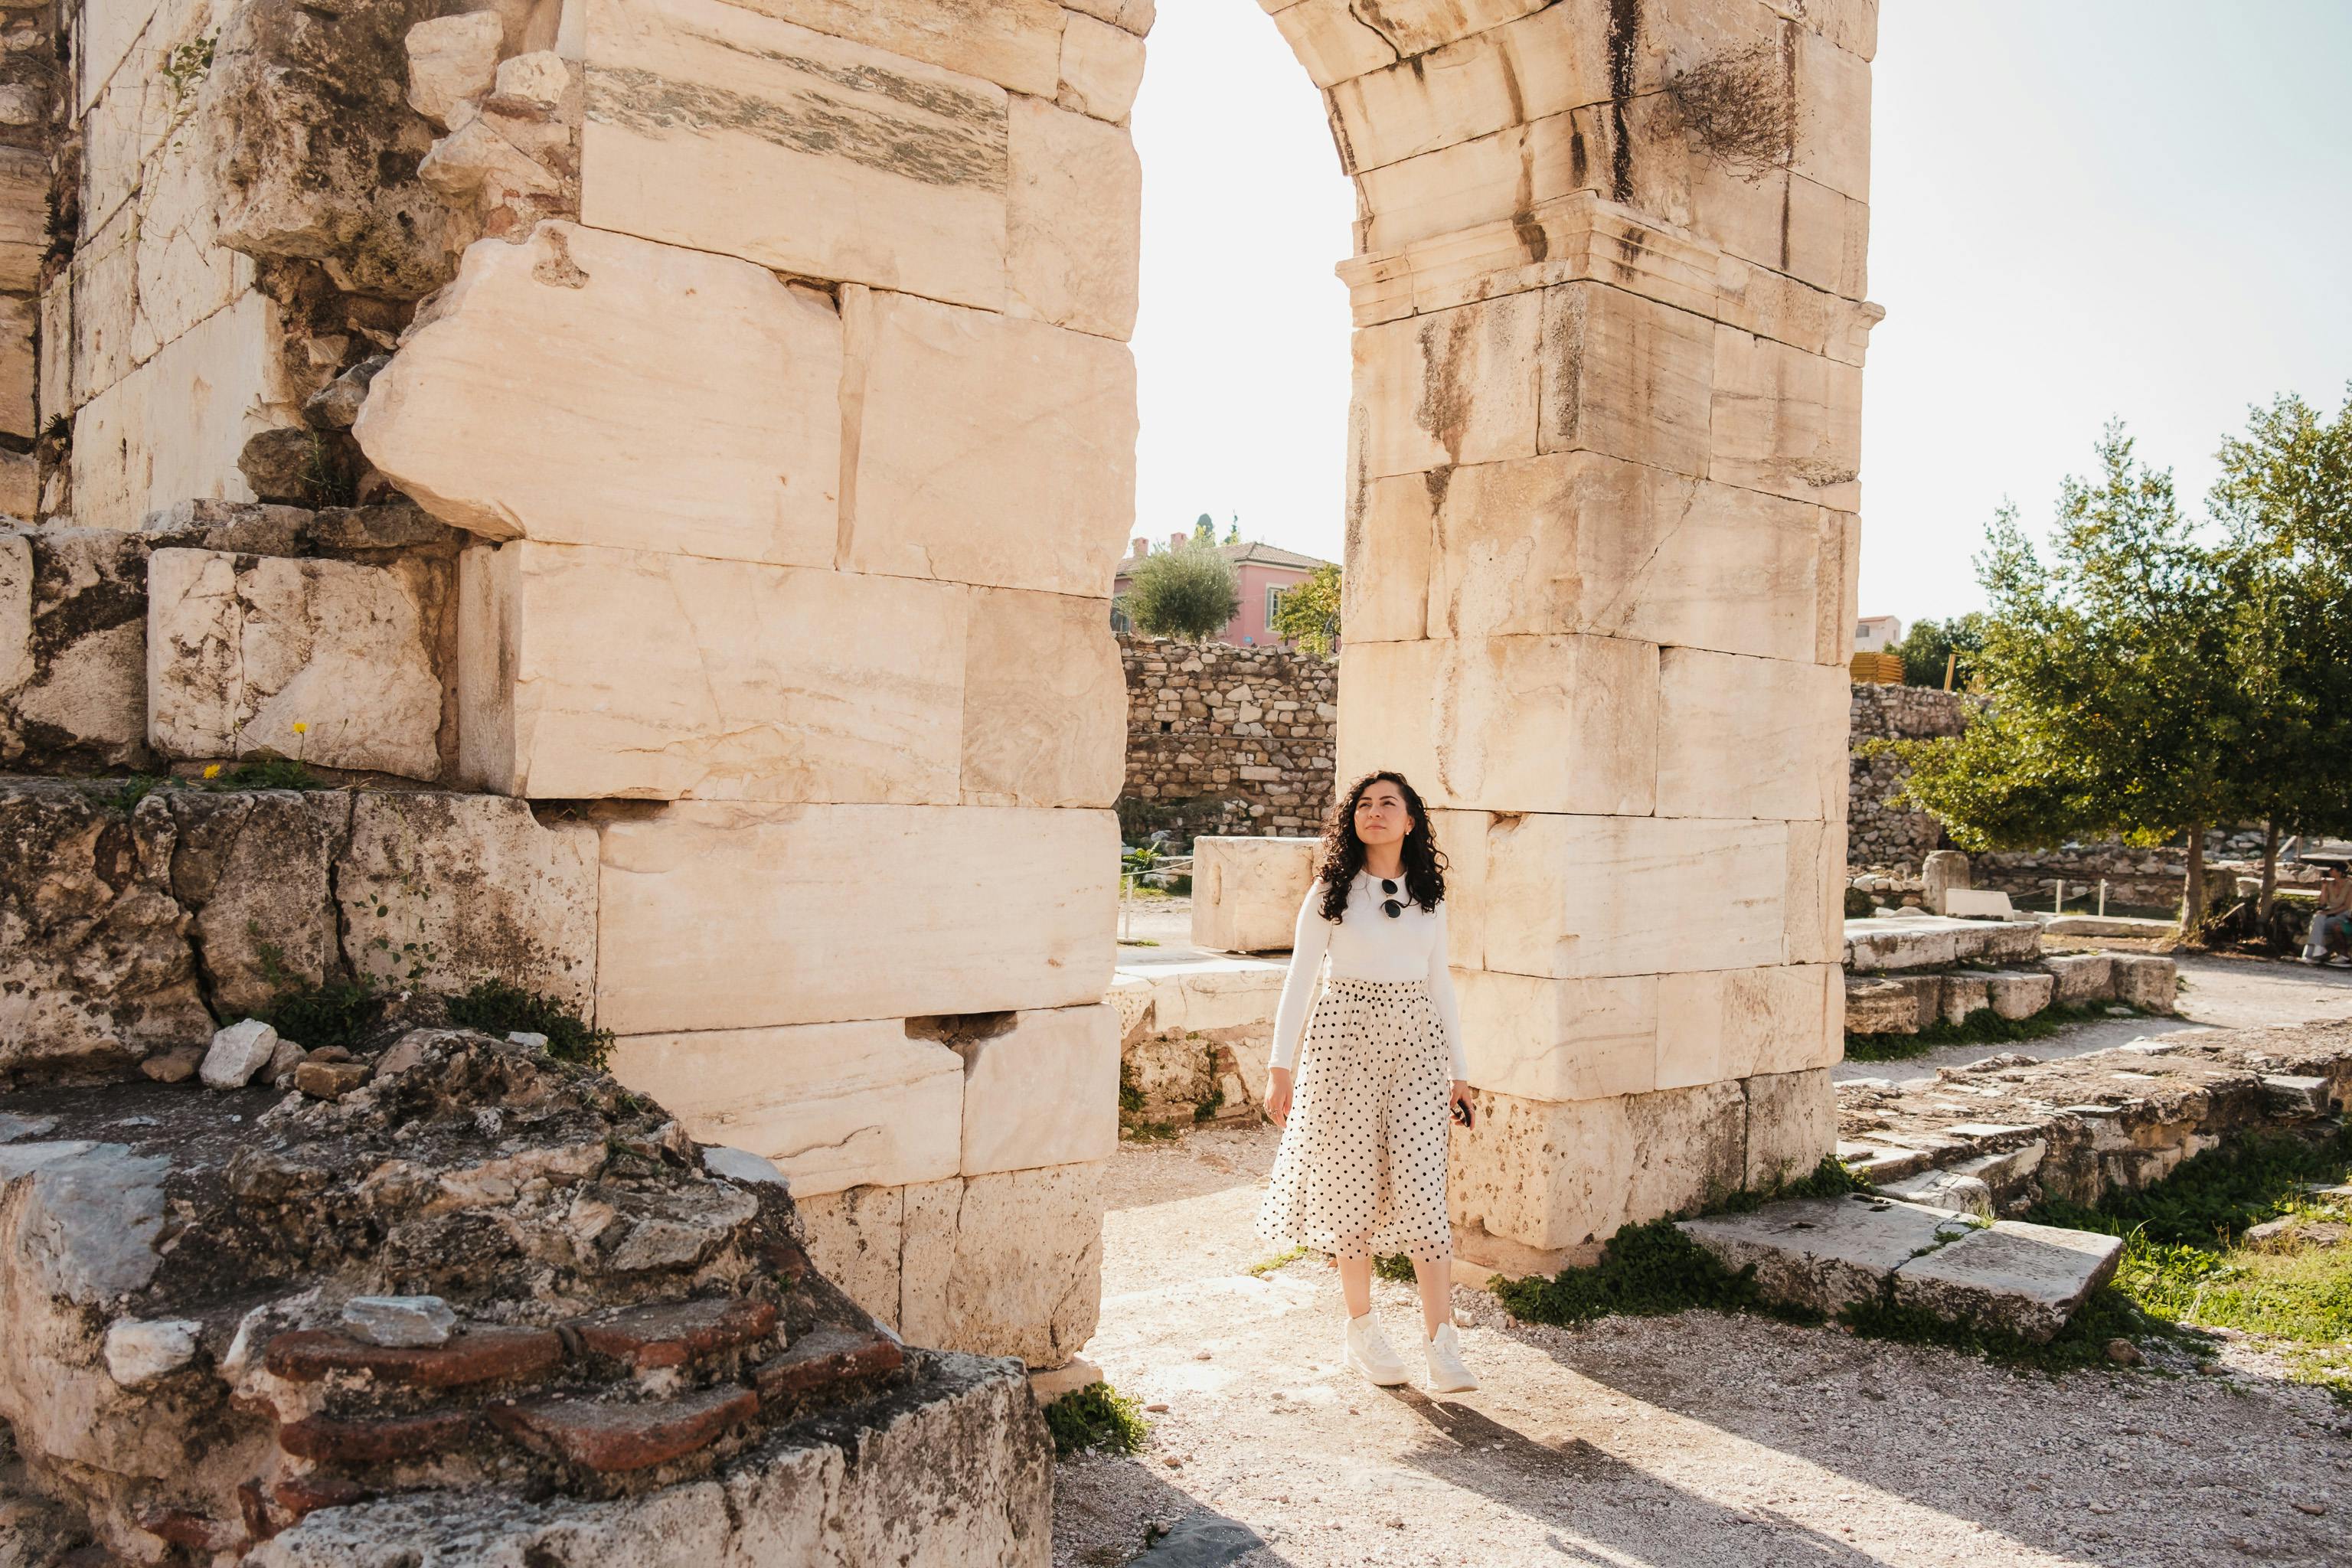
[[[1837,1086],[1837,1157],[1903,1197],[1978,1180],[1994,1213],[2147,1187],[2223,1138],[2352,1100],[2352,1023],[2169,1034],[2053,1063],[1992,1056],[1933,1084]],[[1938,1182],[1943,1178],[1943,1182]]]

